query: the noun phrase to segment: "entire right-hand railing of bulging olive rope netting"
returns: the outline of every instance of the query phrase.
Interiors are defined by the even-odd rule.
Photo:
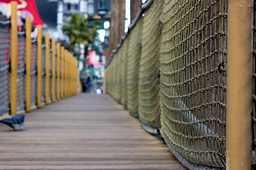
[[[105,67],[107,94],[188,169],[226,167],[227,25],[227,0],[147,1]]]

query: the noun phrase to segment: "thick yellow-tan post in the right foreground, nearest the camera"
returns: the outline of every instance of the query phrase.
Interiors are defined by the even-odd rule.
[[[252,166],[252,7],[252,0],[228,1],[228,170]]]

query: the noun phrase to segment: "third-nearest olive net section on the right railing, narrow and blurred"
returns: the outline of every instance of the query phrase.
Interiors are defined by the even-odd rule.
[[[127,109],[131,115],[138,117],[139,108],[139,62],[142,51],[142,23],[140,18],[130,33],[127,55]]]

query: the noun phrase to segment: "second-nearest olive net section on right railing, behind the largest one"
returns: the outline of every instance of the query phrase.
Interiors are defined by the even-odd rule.
[[[160,125],[159,41],[161,40],[161,4],[154,1],[145,11],[142,25],[142,57],[139,67],[139,120],[144,125]]]

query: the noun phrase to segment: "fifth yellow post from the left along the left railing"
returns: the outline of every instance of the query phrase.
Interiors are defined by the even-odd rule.
[[[51,101],[55,101],[55,40],[51,40],[51,46],[52,46],[52,67],[51,67],[51,74],[52,74],[52,81],[51,81]]]

